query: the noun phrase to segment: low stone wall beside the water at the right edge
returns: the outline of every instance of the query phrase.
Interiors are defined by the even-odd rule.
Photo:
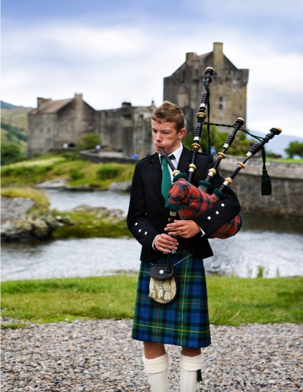
[[[230,175],[243,157],[221,162],[222,177]],[[238,195],[243,213],[303,221],[303,164],[267,162],[272,195],[261,195],[262,161],[251,160],[236,175],[232,189]]]

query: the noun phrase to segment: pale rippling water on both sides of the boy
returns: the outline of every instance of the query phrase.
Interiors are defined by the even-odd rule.
[[[129,195],[111,191],[48,191],[51,208],[70,210],[80,204],[128,209]],[[243,229],[229,239],[211,239],[214,257],[205,259],[208,275],[255,277],[303,275],[303,223],[244,216]],[[135,239],[67,239],[41,243],[2,243],[1,279],[49,279],[98,276],[139,270]]]

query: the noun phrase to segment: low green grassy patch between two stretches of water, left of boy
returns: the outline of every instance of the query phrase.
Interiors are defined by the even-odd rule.
[[[93,238],[93,237],[131,237],[131,233],[126,227],[126,222],[121,221],[115,223],[115,219],[102,217],[98,219],[98,214],[95,212],[85,213],[54,213],[61,217],[69,217],[74,225],[73,226],[60,226],[54,230],[52,237],[54,239],[67,239],[67,238]]]

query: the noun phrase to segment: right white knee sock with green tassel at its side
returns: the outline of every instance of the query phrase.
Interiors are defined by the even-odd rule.
[[[188,357],[180,354],[180,392],[197,391],[197,370],[203,364],[202,353],[199,356]]]

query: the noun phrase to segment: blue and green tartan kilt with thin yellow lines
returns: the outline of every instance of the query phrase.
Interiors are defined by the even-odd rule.
[[[172,254],[172,265],[187,257],[188,250]],[[162,254],[155,264],[166,264]],[[194,255],[175,265],[178,293],[162,304],[148,297],[149,263],[141,263],[131,337],[183,347],[210,346],[210,320],[203,260]]]

